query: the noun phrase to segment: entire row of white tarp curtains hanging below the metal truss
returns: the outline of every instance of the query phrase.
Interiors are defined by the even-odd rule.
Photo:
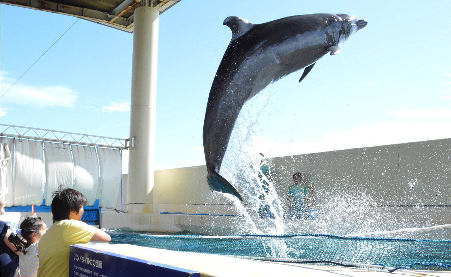
[[[7,206],[51,205],[60,185],[116,208],[122,177],[121,150],[1,137],[0,189],[9,188]],[[44,146],[44,151],[42,151]]]

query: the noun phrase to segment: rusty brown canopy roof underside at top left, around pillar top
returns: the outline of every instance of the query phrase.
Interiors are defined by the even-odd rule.
[[[2,4],[12,5],[17,7],[37,9],[41,11],[70,15],[77,18],[86,19],[91,22],[99,23],[108,27],[113,27],[115,29],[132,33],[133,32],[133,15],[129,18],[124,18],[121,15],[126,12],[131,11],[132,8],[142,0],[134,0],[132,4],[127,5],[117,14],[109,14],[107,12],[82,8],[73,5],[63,5],[51,1],[41,1],[41,0],[2,0]],[[164,11],[177,4],[181,0],[163,0],[160,4],[156,5],[154,8],[158,9],[160,14]]]

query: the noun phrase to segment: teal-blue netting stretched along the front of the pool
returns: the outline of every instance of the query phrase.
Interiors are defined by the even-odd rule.
[[[111,244],[132,244],[237,258],[368,264],[418,270],[451,270],[451,241],[333,235],[158,236],[112,233]]]

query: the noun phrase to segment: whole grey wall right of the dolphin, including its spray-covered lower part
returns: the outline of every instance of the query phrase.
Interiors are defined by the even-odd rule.
[[[293,173],[304,175],[304,183],[313,188],[312,208],[323,224],[319,231],[343,234],[451,223],[451,139],[277,157],[269,163],[280,196],[293,183]],[[299,226],[290,230],[308,231]],[[437,238],[442,235],[449,237],[451,231]]]

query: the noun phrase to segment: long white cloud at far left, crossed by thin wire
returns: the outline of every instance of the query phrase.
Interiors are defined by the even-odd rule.
[[[6,74],[5,71],[2,71],[0,75],[2,95],[15,82],[15,80],[5,77]],[[1,98],[5,103],[30,105],[38,108],[50,106],[72,108],[77,99],[77,93],[66,86],[30,86],[20,82],[16,83]]]

